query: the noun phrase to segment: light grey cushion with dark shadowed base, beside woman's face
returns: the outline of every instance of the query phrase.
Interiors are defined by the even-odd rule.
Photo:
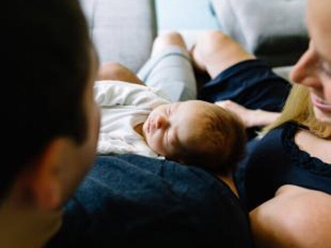
[[[223,31],[273,66],[293,64],[308,45],[306,0],[212,0]]]

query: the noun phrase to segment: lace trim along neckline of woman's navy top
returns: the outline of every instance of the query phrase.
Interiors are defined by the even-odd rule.
[[[308,170],[312,173],[331,177],[331,164],[324,163],[317,157],[312,157],[309,153],[302,151],[294,142],[294,136],[300,128],[297,124],[287,123],[282,133],[282,142],[289,152],[292,164]]]

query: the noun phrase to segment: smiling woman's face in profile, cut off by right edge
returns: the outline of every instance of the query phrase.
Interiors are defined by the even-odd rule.
[[[331,124],[331,0],[308,0],[308,50],[291,72],[291,80],[309,87],[316,118]]]

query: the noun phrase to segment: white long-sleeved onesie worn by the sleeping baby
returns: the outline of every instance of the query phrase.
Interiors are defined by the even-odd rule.
[[[101,109],[98,154],[134,153],[158,157],[134,127],[143,123],[153,108],[170,103],[164,93],[121,81],[96,81],[94,97]]]

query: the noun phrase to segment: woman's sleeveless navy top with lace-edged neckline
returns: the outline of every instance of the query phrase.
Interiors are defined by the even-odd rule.
[[[297,129],[295,124],[284,124],[248,147],[249,156],[236,175],[241,200],[248,210],[271,199],[284,184],[331,194],[331,164],[310,157],[297,147]]]

